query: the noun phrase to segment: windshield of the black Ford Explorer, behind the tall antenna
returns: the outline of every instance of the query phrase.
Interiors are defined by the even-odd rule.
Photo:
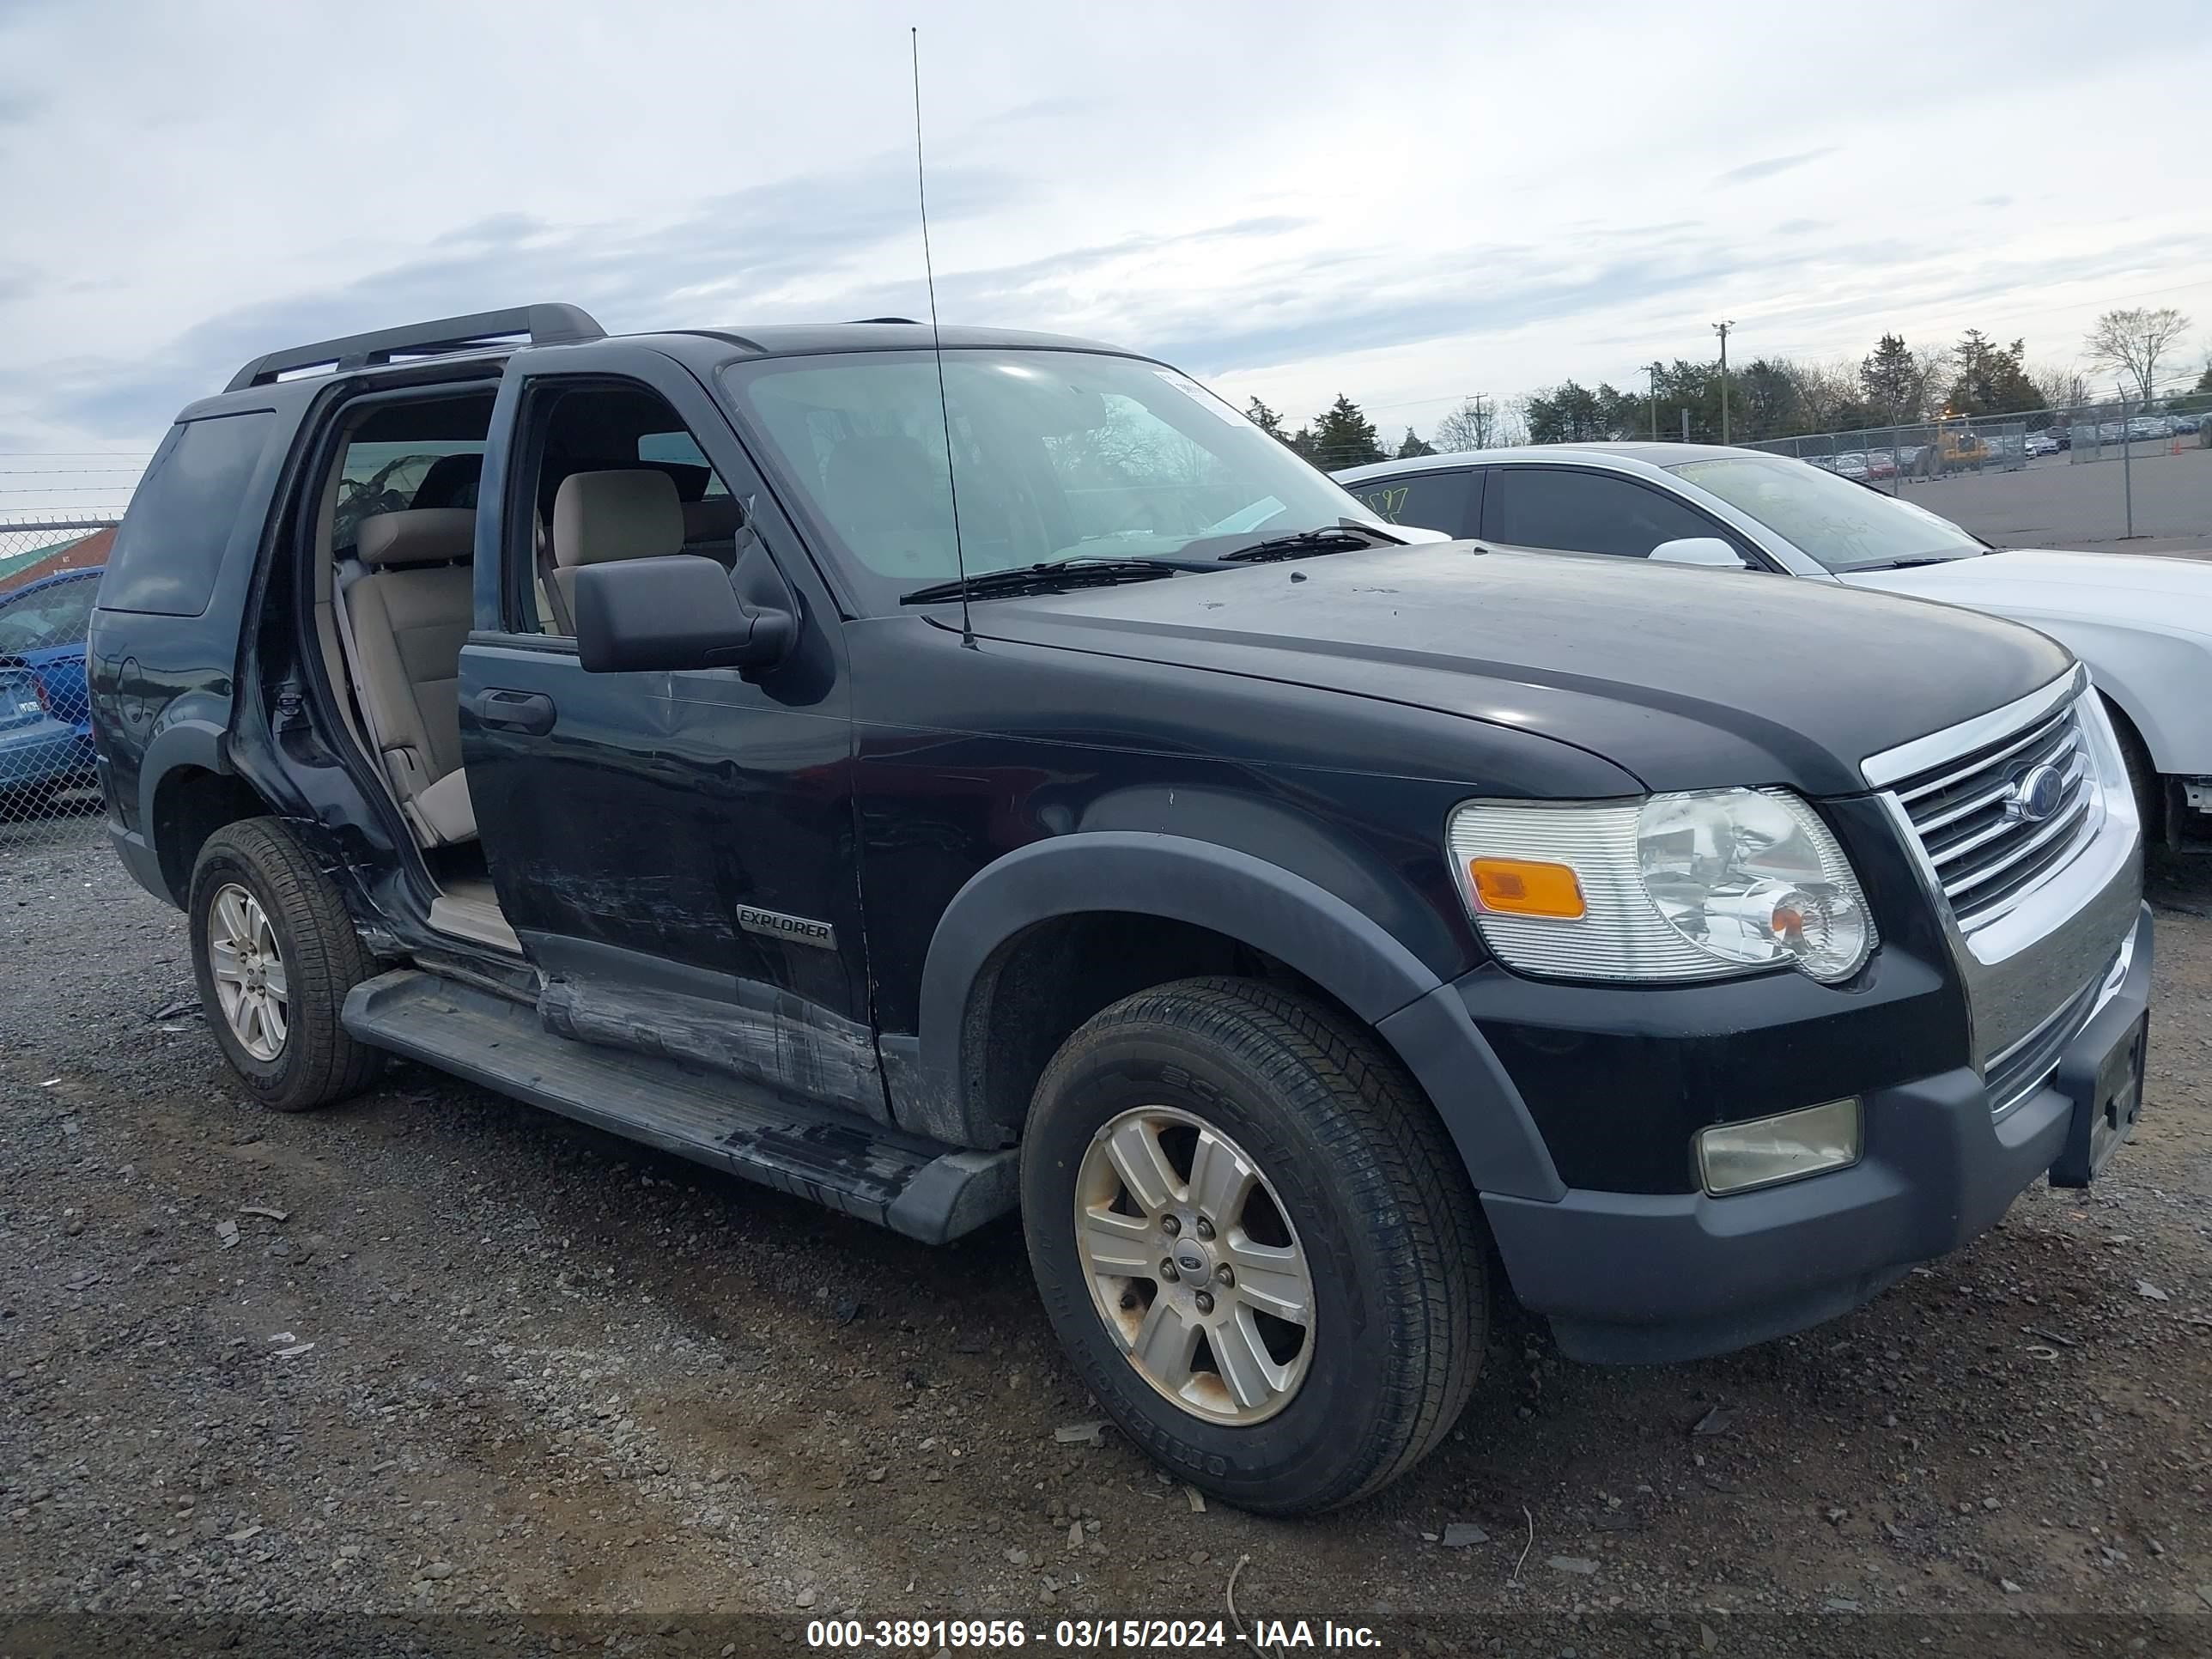
[[[951,349],[942,409],[931,352],[737,363],[723,380],[874,604],[960,573],[956,493],[971,577],[1075,557],[1170,560],[1201,538],[1378,522],[1157,363]]]

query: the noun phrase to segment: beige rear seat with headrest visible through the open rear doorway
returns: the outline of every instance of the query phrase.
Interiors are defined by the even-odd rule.
[[[416,507],[361,520],[354,555],[367,566],[341,597],[354,684],[416,834],[476,838],[460,770],[460,648],[476,615],[476,513]]]

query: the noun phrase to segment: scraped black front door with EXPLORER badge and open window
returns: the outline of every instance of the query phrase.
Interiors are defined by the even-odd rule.
[[[883,1117],[836,611],[686,369],[613,345],[560,363],[518,363],[502,389],[480,493],[498,495],[498,557],[480,538],[460,655],[478,834],[546,973],[549,1024]],[[639,414],[655,400],[666,418]],[[701,456],[750,520],[732,557],[770,560],[799,597],[799,648],[757,681],[586,675],[546,597],[538,518],[555,526],[557,478],[666,471],[672,453]]]

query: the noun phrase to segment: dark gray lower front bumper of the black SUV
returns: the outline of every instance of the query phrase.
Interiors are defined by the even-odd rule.
[[[1763,1192],[1590,1192],[1553,1203],[1484,1194],[1513,1290],[1548,1314],[1562,1352],[1599,1363],[1723,1354],[1869,1301],[1913,1263],[1995,1225],[2059,1164],[2101,1106],[2106,1055],[2150,1006],[2150,909],[2126,971],[2057,1051],[2048,1079],[2002,1115],[1982,1077],[1942,1071],[1865,1099],[1865,1157]]]

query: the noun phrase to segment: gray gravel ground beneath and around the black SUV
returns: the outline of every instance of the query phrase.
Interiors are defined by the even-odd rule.
[[[1440,1455],[1292,1524],[1075,1433],[1013,1225],[927,1250],[411,1066],[243,1104],[181,918],[53,821],[0,843],[0,1652],[785,1652],[1232,1571],[1385,1652],[2203,1652],[2212,860],[2154,898],[2095,1192],[1723,1360],[1506,1314]]]

